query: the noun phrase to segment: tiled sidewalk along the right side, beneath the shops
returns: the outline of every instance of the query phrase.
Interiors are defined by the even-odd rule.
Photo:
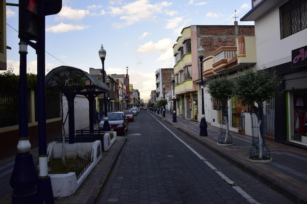
[[[250,162],[247,157],[252,145],[251,136],[230,132],[234,144],[219,146],[216,144],[220,134],[219,128],[208,125],[208,136],[203,137],[199,136],[200,122],[177,117],[177,123],[173,123],[173,114],[165,114],[165,117],[162,117],[161,114],[156,115],[218,152],[221,156],[231,159],[241,169],[253,174],[258,180],[264,181],[283,196],[298,204],[307,204],[306,150],[266,140],[273,161],[269,163]]]

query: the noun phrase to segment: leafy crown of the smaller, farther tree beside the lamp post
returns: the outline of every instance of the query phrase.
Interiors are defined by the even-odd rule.
[[[220,76],[208,81],[208,85],[209,89],[207,89],[207,92],[223,106],[226,105],[227,101],[233,96],[233,79],[227,78],[226,76]]]

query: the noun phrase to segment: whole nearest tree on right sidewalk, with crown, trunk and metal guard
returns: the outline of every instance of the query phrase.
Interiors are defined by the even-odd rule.
[[[263,102],[273,98],[281,84],[275,71],[247,69],[235,78],[234,94],[238,96],[242,105],[250,107],[253,121],[253,113],[257,118],[257,131],[253,131],[253,144],[250,149],[250,159],[271,159],[268,148],[265,145]],[[257,103],[258,107],[254,105]],[[253,124],[252,124],[253,126]],[[254,126],[256,127],[256,125]],[[256,136],[254,135],[256,133]]]

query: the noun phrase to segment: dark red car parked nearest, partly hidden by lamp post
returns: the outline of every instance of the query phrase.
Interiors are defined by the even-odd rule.
[[[128,118],[124,112],[111,112],[107,113],[110,128],[118,134],[125,135],[128,130]],[[99,123],[99,129],[103,129],[104,117]]]

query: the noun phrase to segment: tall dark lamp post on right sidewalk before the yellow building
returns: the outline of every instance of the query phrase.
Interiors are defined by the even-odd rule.
[[[203,81],[203,59],[204,59],[205,49],[203,47],[199,47],[197,50],[198,57],[201,61],[201,89],[202,89],[202,119],[200,124],[200,133],[199,136],[208,136],[207,133],[207,123],[205,120],[205,103],[204,103],[204,81]]]

